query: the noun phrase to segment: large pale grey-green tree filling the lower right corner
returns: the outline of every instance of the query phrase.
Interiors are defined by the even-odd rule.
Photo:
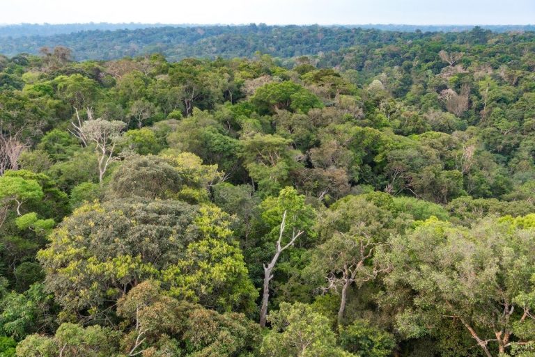
[[[472,229],[431,218],[394,237],[382,255],[394,267],[387,286],[413,293],[404,295],[411,304],[397,316],[398,328],[414,338],[452,319],[488,357],[534,343],[532,216],[488,218]]]

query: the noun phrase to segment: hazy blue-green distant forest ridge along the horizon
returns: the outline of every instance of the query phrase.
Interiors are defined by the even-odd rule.
[[[491,31],[518,32],[521,35],[533,33],[535,26],[22,24],[0,26],[0,54],[38,54],[42,47],[64,46],[72,49],[74,58],[79,61],[153,53],[163,54],[169,61],[188,57],[234,58],[251,57],[258,51],[291,58],[371,43],[395,45],[399,41],[433,38],[437,34],[462,44],[470,41],[474,29],[483,36],[485,33],[490,35]],[[54,34],[54,31],[65,33]],[[36,32],[40,35],[20,36],[21,33]]]

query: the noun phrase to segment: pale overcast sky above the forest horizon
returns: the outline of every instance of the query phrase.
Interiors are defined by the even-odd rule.
[[[533,24],[535,0],[0,0],[0,24]]]

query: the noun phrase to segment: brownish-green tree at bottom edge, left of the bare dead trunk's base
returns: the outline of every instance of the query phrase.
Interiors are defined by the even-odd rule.
[[[134,287],[117,305],[118,315],[129,323],[122,339],[127,356],[173,356],[184,350],[189,356],[249,356],[261,337],[258,325],[244,315],[174,299],[154,280]]]

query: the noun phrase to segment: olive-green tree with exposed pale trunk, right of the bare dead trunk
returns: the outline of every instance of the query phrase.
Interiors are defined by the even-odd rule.
[[[323,243],[311,252],[304,273],[313,280],[318,279],[324,291],[341,289],[339,324],[346,310],[348,288],[353,284],[361,287],[388,269],[380,267],[373,255],[391,232],[394,216],[390,211],[393,210],[391,196],[371,193],[346,196],[318,217],[316,230]]]

